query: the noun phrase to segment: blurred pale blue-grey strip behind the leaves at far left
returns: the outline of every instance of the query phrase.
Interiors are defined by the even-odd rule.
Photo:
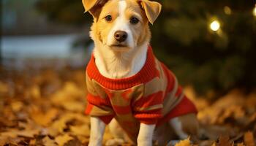
[[[2,37],[4,58],[67,58],[76,34]]]

